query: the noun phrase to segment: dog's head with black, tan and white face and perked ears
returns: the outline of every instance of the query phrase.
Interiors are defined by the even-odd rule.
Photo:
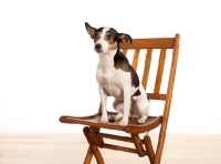
[[[108,53],[119,48],[119,43],[130,41],[129,34],[118,33],[113,28],[98,28],[95,29],[85,22],[86,31],[94,39],[94,50],[99,54]]]

